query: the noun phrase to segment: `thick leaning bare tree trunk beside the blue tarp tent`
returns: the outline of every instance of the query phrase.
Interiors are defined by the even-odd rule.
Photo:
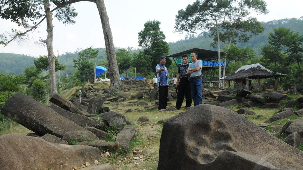
[[[112,31],[109,25],[105,4],[103,0],[96,0],[96,4],[102,23],[102,30],[105,40],[106,55],[108,61],[108,70],[109,70],[109,75],[111,77],[111,84],[109,86],[109,89],[121,90],[122,83],[119,76],[117,59],[115,54],[115,46],[113,42]]]

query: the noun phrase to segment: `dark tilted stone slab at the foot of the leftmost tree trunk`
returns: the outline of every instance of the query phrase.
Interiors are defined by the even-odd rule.
[[[58,94],[54,94],[49,101],[61,107],[62,109],[70,111],[72,113],[76,113],[79,115],[89,115],[89,113],[84,110],[79,110],[78,107],[75,106],[72,102],[65,100],[62,96]]]

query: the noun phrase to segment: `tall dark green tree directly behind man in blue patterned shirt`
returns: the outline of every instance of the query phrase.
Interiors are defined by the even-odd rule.
[[[155,70],[159,64],[162,55],[167,56],[169,47],[165,40],[163,31],[160,31],[160,21],[147,21],[144,24],[144,29],[138,33],[139,46],[144,49],[146,55],[151,56],[151,70]],[[169,67],[171,60],[166,59],[166,67]]]

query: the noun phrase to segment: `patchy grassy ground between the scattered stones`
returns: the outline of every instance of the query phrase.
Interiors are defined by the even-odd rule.
[[[90,83],[86,83],[85,87],[91,85]],[[100,89],[102,90],[103,88],[108,88],[109,82],[101,82],[93,85],[95,89]],[[149,84],[150,87],[152,87],[152,84]],[[75,90],[78,87],[74,87],[70,90],[67,90],[65,92],[62,92],[61,95],[64,96],[66,99],[70,99],[72,94],[75,93]],[[136,93],[137,91],[129,91],[130,94]],[[288,99],[283,101],[284,103],[287,103],[289,100],[294,100],[300,97],[301,95],[288,95]],[[133,100],[133,99],[128,99],[128,100]],[[162,124],[158,124],[158,121],[161,119],[169,118],[171,116],[175,116],[179,114],[180,112],[186,111],[183,108],[181,110],[175,110],[175,111],[158,111],[158,110],[151,110],[151,111],[142,111],[142,112],[137,112],[135,109],[140,109],[143,110],[144,106],[124,106],[125,102],[128,100],[125,100],[123,102],[120,102],[116,105],[113,105],[113,103],[105,104],[105,107],[109,107],[110,110],[117,111],[119,113],[124,114],[127,118],[135,121],[136,123],[133,124],[133,126],[136,127],[137,132],[138,132],[138,138],[134,139],[131,142],[129,152],[122,152],[119,151],[118,153],[110,153],[107,157],[104,157],[99,160],[101,163],[112,163],[117,169],[126,169],[126,170],[131,170],[131,169],[157,169],[158,166],[158,154],[159,154],[159,144],[160,144],[160,137],[161,137],[161,132],[162,132]],[[149,102],[149,100],[144,100],[144,99],[139,99],[138,102],[140,101],[145,101],[148,103],[148,106],[152,106],[154,102]],[[175,106],[175,99],[169,106]],[[133,112],[130,113],[125,113],[126,110],[129,108],[132,108]],[[239,105],[234,105],[230,106],[232,110],[239,110],[242,108],[242,106]],[[256,113],[256,115],[248,115],[246,116],[249,120],[251,120],[254,123],[266,123],[267,119],[273,116],[278,112],[279,109],[265,109],[264,106],[262,105],[257,105],[253,108],[247,108],[248,110],[252,110]],[[295,110],[298,110],[295,108]],[[264,117],[257,117],[258,115],[263,115]],[[138,118],[140,116],[147,116],[149,119],[151,119],[151,122],[147,123],[139,123],[137,122]],[[269,126],[265,127],[265,129],[268,132],[272,132],[271,126],[276,126],[280,125],[283,126],[288,120],[297,120],[301,119],[298,116],[290,116],[287,119],[283,120],[278,120],[275,122],[270,123]],[[31,132],[30,130],[26,129],[25,127],[18,125],[15,126],[14,128],[10,130],[4,130],[1,131],[0,134],[6,134],[6,133],[15,133],[19,135],[26,135],[28,132]],[[153,134],[148,134],[150,132],[154,132]],[[276,133],[277,135],[277,133]],[[149,139],[151,136],[157,136],[154,137],[153,139]],[[286,134],[283,136],[279,136],[278,138],[281,140],[284,140],[286,137]],[[111,140],[115,140],[112,138]],[[303,150],[303,144],[301,144],[298,149]],[[141,153],[134,153],[134,152],[141,152]],[[105,151],[104,151],[105,153]],[[138,158],[136,158],[138,157]],[[135,158],[135,159],[134,159]],[[138,159],[138,160],[137,160]]]

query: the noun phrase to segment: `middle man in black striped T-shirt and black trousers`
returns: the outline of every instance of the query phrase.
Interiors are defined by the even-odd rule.
[[[178,89],[177,94],[177,102],[176,102],[176,110],[180,110],[183,100],[184,100],[184,94],[186,99],[186,105],[185,107],[191,106],[191,87],[190,82],[188,81],[189,75],[187,74],[188,69],[188,56],[182,55],[183,64],[179,66],[178,69],[178,76],[177,76],[177,82],[176,82],[176,88]],[[180,80],[180,83],[179,83]]]

